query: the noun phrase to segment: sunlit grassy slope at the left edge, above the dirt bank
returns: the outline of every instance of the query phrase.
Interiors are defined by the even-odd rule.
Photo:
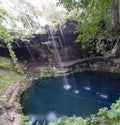
[[[2,93],[8,85],[21,80],[22,76],[15,71],[11,60],[0,57],[0,93]]]

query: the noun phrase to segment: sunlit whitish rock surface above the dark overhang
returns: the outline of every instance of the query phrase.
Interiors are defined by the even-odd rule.
[[[66,13],[63,7],[56,6],[57,0],[0,0],[0,8],[5,9],[11,18],[3,25],[12,32],[30,35],[44,32],[45,25],[63,20]]]

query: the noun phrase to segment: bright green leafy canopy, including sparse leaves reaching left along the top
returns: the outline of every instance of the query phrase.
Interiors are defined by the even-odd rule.
[[[82,42],[85,45],[100,35],[99,32],[103,30],[100,23],[108,21],[110,15],[107,11],[111,2],[112,0],[59,0],[59,4],[63,4],[68,10],[73,8],[84,10],[76,27],[79,33],[77,42]]]

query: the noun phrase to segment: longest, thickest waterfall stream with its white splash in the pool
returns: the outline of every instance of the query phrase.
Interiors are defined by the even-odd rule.
[[[52,43],[53,43],[53,47],[54,47],[54,51],[55,51],[54,54],[55,54],[57,63],[58,63],[58,65],[60,66],[60,69],[61,69],[62,71],[64,71],[64,68],[63,68],[63,66],[62,66],[61,57],[60,57],[60,54],[59,54],[59,51],[58,51],[58,48],[57,48],[57,43],[56,43],[56,41],[55,41],[55,38],[54,38],[54,35],[53,35],[53,32],[52,32],[50,26],[48,26],[48,31],[49,31],[49,37],[51,38]],[[64,86],[63,86],[63,88],[66,89],[66,90],[71,89],[71,85],[69,84],[66,75],[63,75],[63,81],[64,81]]]

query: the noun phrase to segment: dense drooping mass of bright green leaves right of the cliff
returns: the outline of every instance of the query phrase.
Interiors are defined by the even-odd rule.
[[[98,32],[102,30],[101,21],[104,22],[110,3],[111,0],[91,0],[81,22],[77,25],[77,32],[80,32],[77,42],[90,42],[100,35]]]

